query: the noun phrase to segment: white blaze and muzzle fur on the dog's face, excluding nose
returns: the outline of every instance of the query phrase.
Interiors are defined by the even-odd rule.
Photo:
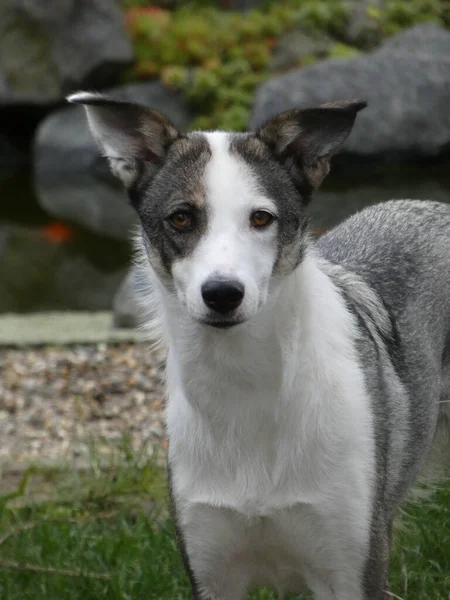
[[[201,286],[210,278],[239,280],[245,296],[235,317],[248,319],[266,301],[276,259],[276,221],[267,229],[250,227],[253,211],[276,216],[277,207],[258,187],[244,161],[227,150],[227,133],[208,133],[212,150],[204,177],[208,230],[193,255],[174,264],[172,274],[181,304],[193,318],[208,316]]]

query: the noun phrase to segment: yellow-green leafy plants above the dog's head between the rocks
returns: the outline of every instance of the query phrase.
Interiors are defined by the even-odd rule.
[[[127,27],[139,79],[160,78],[182,90],[196,118],[193,128],[245,129],[255,87],[268,76],[276,37],[301,24],[337,30],[345,22],[340,0],[289,0],[244,14],[208,3],[175,11],[133,0]]]

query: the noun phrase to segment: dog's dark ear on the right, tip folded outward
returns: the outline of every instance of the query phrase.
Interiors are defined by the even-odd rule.
[[[330,102],[317,108],[290,110],[264,123],[256,132],[307,193],[319,187],[330,170],[329,160],[350,134],[361,100]]]

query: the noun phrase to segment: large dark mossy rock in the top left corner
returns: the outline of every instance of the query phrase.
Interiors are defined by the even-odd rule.
[[[112,85],[133,58],[114,0],[3,0],[0,103],[48,104]]]

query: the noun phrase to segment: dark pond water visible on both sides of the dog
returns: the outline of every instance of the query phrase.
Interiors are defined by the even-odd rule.
[[[128,243],[61,223],[38,205],[31,174],[0,172],[0,313],[111,307]],[[450,162],[337,168],[311,207],[315,232],[390,198],[450,202]]]

